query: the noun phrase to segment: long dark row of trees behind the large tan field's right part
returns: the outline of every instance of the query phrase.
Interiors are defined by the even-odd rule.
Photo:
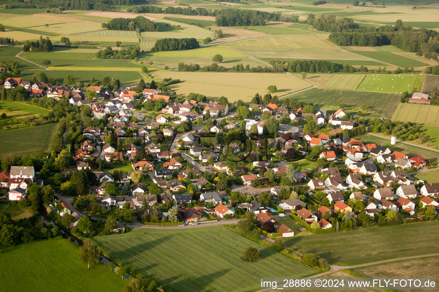
[[[324,60],[278,60],[271,59],[270,65],[277,67],[277,71],[288,70],[290,73],[354,73],[352,65],[332,63]]]

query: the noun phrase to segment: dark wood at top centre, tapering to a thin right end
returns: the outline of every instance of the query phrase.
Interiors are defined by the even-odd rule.
[[[265,21],[298,22],[298,18],[280,13],[241,9],[222,9],[218,11],[215,18],[217,26],[265,25]]]

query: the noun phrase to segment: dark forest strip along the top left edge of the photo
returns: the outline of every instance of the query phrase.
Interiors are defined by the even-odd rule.
[[[32,0],[1,1],[2,8],[60,8],[61,10],[101,10],[110,11],[114,6],[148,4],[149,0]]]

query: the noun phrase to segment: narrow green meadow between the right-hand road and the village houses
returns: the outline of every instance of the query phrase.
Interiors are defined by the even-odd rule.
[[[370,134],[363,134],[360,136],[356,136],[355,139],[363,141],[364,143],[375,143],[388,146],[392,151],[400,151],[407,154],[409,157],[419,156],[421,155],[425,159],[430,162],[438,163],[439,162],[439,152],[424,149],[417,146],[412,146],[408,144],[404,144],[401,142],[397,142],[395,145],[390,144],[390,139],[386,139],[385,137],[376,137]],[[407,141],[411,143],[411,141]]]

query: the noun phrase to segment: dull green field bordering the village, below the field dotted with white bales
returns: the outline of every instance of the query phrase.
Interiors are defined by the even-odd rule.
[[[290,99],[313,102],[314,106],[323,108],[338,106],[340,102],[344,102],[349,112],[356,112],[363,104],[367,104],[373,113],[386,119],[390,119],[399,103],[399,95],[396,94],[351,90],[342,90],[340,94],[340,89],[327,88],[312,88],[291,95]]]

